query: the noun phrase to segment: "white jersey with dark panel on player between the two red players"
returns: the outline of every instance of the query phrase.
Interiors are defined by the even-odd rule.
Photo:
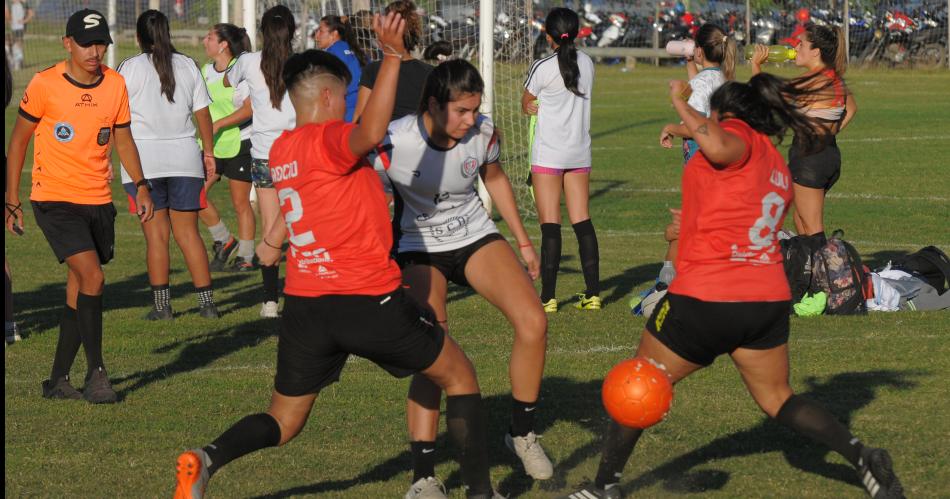
[[[383,144],[370,156],[393,190],[397,252],[451,251],[497,233],[476,181],[482,165],[498,162],[500,150],[495,126],[484,116],[448,150],[429,141],[420,116],[390,123]]]

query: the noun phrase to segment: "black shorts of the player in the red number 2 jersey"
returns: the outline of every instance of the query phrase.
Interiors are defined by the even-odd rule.
[[[274,389],[298,397],[340,379],[358,355],[396,377],[427,369],[445,333],[428,311],[397,288],[381,296],[286,296],[277,342]]]

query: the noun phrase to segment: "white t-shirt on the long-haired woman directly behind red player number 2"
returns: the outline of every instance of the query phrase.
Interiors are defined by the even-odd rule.
[[[293,130],[297,126],[297,114],[290,103],[290,95],[284,92],[280,109],[270,102],[270,89],[261,72],[261,53],[245,52],[238,57],[228,70],[228,83],[237,88],[247,82],[251,93],[251,109],[254,112],[251,122],[251,157],[268,159],[270,146],[284,130]]]

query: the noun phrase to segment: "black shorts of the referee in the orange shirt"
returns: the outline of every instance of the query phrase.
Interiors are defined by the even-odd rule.
[[[65,201],[31,201],[36,225],[63,263],[67,258],[93,250],[99,263],[115,256],[115,206],[74,204]]]

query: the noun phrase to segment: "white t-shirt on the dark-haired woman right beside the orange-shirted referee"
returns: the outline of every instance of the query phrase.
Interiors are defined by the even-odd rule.
[[[175,100],[169,102],[162,93],[158,71],[148,54],[139,54],[119,64],[118,72],[125,78],[129,92],[132,137],[146,178],[204,178],[192,114],[208,107],[211,97],[191,58],[172,54],[172,71]],[[122,181],[131,182],[125,169]]]

